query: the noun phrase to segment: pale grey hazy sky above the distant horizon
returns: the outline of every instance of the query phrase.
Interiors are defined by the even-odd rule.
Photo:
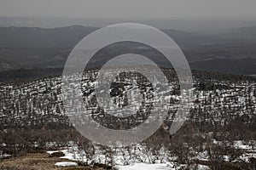
[[[128,19],[256,16],[256,0],[0,0],[0,16]]]

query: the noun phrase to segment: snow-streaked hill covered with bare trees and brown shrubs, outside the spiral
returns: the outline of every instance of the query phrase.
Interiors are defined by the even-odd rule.
[[[194,164],[201,164],[212,169],[252,169],[256,141],[255,78],[194,71],[194,105],[191,106],[183,127],[170,135],[169,128],[180,99],[175,72],[169,69],[163,71],[172,80],[169,85],[172,90],[164,93],[170,99],[170,105],[166,105],[170,111],[164,125],[139,146],[120,150],[90,144],[73,128],[67,117],[67,114],[72,113],[67,113],[63,107],[60,76],[39,78],[39,75],[28,80],[23,77],[1,82],[0,157],[6,154],[22,156],[35,150],[60,150],[71,146],[73,149],[65,152],[67,156],[72,155],[72,159],[90,163],[98,161],[98,157],[104,155],[105,158],[103,156],[102,159],[107,160],[107,165],[112,165],[111,156],[120,158],[124,154],[121,156],[123,161],[120,162],[124,165],[131,161],[155,163],[156,160],[166,160],[174,162],[173,166],[185,164],[193,167]],[[131,116],[116,120],[102,112],[100,105],[96,103],[93,88],[96,75],[96,70],[84,71],[83,82],[78,86],[82,88],[84,103],[88,105],[94,121],[113,129],[123,129],[146,121],[152,109],[150,102],[154,102],[150,100],[150,94],[152,90],[157,91],[157,87],[152,88],[143,77],[133,73],[117,77],[109,91],[113,103],[125,107],[131,101],[140,110],[134,115],[136,119],[130,119],[133,117]],[[134,85],[131,80],[139,83]],[[134,90],[140,90],[143,99],[147,97],[149,103],[146,100],[142,103],[134,102],[130,96]],[[97,154],[97,148],[101,154]],[[83,150],[86,155],[83,155]],[[2,165],[6,166],[4,162],[8,161],[3,161]],[[50,162],[52,164],[49,166],[52,167],[53,162]],[[42,161],[39,160],[38,163]],[[44,163],[47,164],[48,161]]]

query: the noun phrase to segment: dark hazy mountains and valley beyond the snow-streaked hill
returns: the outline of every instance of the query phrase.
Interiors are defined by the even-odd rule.
[[[243,27],[218,36],[172,29],[162,31],[182,48],[193,69],[254,75],[255,28]],[[63,67],[74,46],[97,29],[90,26],[0,27],[0,71]]]

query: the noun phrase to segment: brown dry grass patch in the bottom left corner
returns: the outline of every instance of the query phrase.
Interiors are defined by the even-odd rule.
[[[1,170],[92,170],[91,167],[56,167],[58,161],[69,161],[60,157],[49,157],[49,154],[27,154],[0,161]]]

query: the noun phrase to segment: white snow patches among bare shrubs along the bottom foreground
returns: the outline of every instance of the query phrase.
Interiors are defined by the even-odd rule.
[[[217,141],[216,139],[212,140],[213,144],[223,144],[224,141]],[[253,141],[254,142],[254,141]],[[246,143],[242,140],[236,140],[234,143],[230,143],[230,146],[233,146],[234,148],[243,149],[244,151],[252,150],[251,143]],[[86,161],[89,162],[91,159],[98,163],[104,163],[106,160],[106,156],[104,155],[104,150],[101,150],[99,147],[95,146],[96,152],[93,157],[87,157],[84,150],[79,150],[79,147],[77,145],[73,145],[73,147],[68,147],[64,150],[49,150],[47,153],[52,154],[54,152],[61,151],[65,154],[65,156],[62,156],[61,158],[68,159],[70,161]],[[186,167],[187,165],[179,165],[172,161],[170,156],[167,156],[166,149],[163,148],[162,155],[163,159],[155,160],[155,163],[152,163],[150,159],[154,159],[154,156],[152,153],[147,152],[145,153],[145,150],[147,148],[144,148],[143,145],[137,144],[137,146],[134,146],[131,150],[125,150],[125,149],[116,149],[115,153],[113,154],[113,162],[115,164],[115,167],[119,170],[172,170],[177,169],[180,167]],[[148,155],[149,154],[149,155]],[[196,160],[203,160],[208,161],[208,153],[207,151],[203,152],[196,152],[197,156],[194,157]],[[148,157],[149,156],[149,157]],[[174,156],[175,157],[175,156]],[[173,157],[173,158],[174,158]],[[251,157],[256,157],[256,154],[253,153],[244,153],[240,156],[240,160],[243,161],[249,161]],[[109,158],[108,158],[109,159]],[[229,156],[224,156],[225,161],[229,161]],[[175,160],[175,159],[174,159]],[[163,163],[160,163],[163,162]],[[109,164],[109,162],[108,162]],[[127,165],[128,164],[128,165]],[[77,166],[77,163],[75,162],[58,162],[55,164],[56,166]],[[197,169],[199,170],[208,170],[209,167],[204,165],[195,165]]]

